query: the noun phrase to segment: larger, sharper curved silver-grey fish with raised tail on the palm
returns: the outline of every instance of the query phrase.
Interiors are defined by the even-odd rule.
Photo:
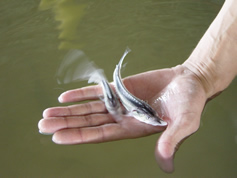
[[[124,86],[122,79],[121,79],[121,66],[125,56],[131,50],[127,48],[121,57],[119,63],[116,65],[114,73],[113,73],[113,82],[115,85],[115,89],[117,95],[120,98],[121,103],[128,111],[128,114],[133,116],[135,119],[139,120],[140,122],[153,125],[153,126],[166,126],[167,122],[162,120],[156,111],[145,101],[137,98],[136,96],[132,95]]]

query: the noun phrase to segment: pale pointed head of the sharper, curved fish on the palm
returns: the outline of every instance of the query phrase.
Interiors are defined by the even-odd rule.
[[[137,120],[153,126],[166,126],[167,122],[160,119],[156,113],[150,113],[146,110],[136,108],[132,110],[132,116]]]

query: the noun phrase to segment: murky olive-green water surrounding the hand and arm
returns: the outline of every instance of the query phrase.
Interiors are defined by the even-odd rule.
[[[157,166],[159,134],[103,144],[60,146],[38,133],[42,111],[86,82],[57,84],[69,49],[83,50],[112,80],[182,63],[221,8],[220,0],[22,0],[0,2],[1,177],[235,177],[237,81],[208,103],[199,131],[176,154],[176,171]]]

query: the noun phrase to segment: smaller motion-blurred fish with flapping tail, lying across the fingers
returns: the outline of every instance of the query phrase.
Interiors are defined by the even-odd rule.
[[[103,96],[99,98],[105,103],[107,111],[116,118],[123,113],[121,104],[110,87],[104,71],[97,67],[82,50],[74,49],[67,53],[56,77],[59,84],[88,80],[88,83],[100,85]]]

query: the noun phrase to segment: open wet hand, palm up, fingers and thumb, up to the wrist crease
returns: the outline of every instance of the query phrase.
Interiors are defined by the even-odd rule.
[[[164,131],[157,141],[155,156],[162,170],[174,170],[174,154],[180,143],[199,128],[207,96],[196,76],[183,65],[149,71],[124,79],[126,88],[147,101],[168,123],[167,128],[141,123],[130,116],[115,120],[102,101],[99,86],[63,93],[59,101],[83,104],[48,108],[39,122],[42,133],[52,133],[58,144],[99,143],[138,138]]]

